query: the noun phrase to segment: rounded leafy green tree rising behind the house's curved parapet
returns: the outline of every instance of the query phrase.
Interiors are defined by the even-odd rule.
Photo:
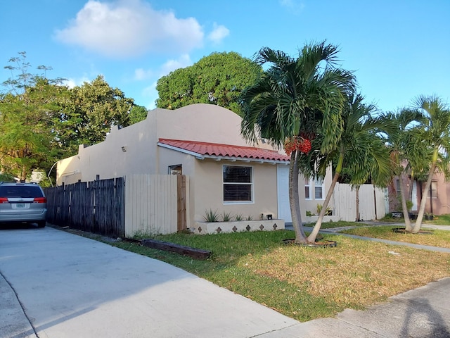
[[[212,53],[190,67],[161,77],[156,89],[158,108],[216,104],[240,113],[239,96],[255,83],[262,68],[235,52]]]

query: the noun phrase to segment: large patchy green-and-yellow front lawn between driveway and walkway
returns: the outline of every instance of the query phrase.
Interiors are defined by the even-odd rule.
[[[176,265],[301,321],[334,316],[345,308],[365,308],[450,275],[446,253],[332,234],[323,239],[337,241],[337,247],[282,244],[293,237],[288,230],[155,237],[211,250],[212,258],[206,261],[136,243],[109,244]]]

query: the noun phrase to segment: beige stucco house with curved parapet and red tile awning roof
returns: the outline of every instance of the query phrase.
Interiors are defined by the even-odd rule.
[[[189,177],[188,225],[203,220],[208,210],[291,222],[290,158],[264,140],[246,142],[240,123],[236,113],[211,104],[156,108],[146,120],[114,126],[104,142],[79,146],[77,155],[58,161],[57,184],[182,174]],[[300,180],[303,219],[323,203],[331,178],[328,173],[323,182]]]

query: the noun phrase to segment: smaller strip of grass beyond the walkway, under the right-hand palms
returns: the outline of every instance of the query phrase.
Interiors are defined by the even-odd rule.
[[[392,229],[398,228],[394,225],[378,226],[378,227],[358,227],[354,229],[342,230],[345,234],[356,234],[357,236],[389,239],[396,242],[408,242],[414,244],[440,246],[442,248],[450,248],[450,231],[448,230],[430,230],[424,229],[419,234],[407,234],[393,232]]]

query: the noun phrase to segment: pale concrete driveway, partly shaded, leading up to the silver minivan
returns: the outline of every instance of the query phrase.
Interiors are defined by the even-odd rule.
[[[60,230],[0,230],[0,337],[255,337],[296,320]]]

